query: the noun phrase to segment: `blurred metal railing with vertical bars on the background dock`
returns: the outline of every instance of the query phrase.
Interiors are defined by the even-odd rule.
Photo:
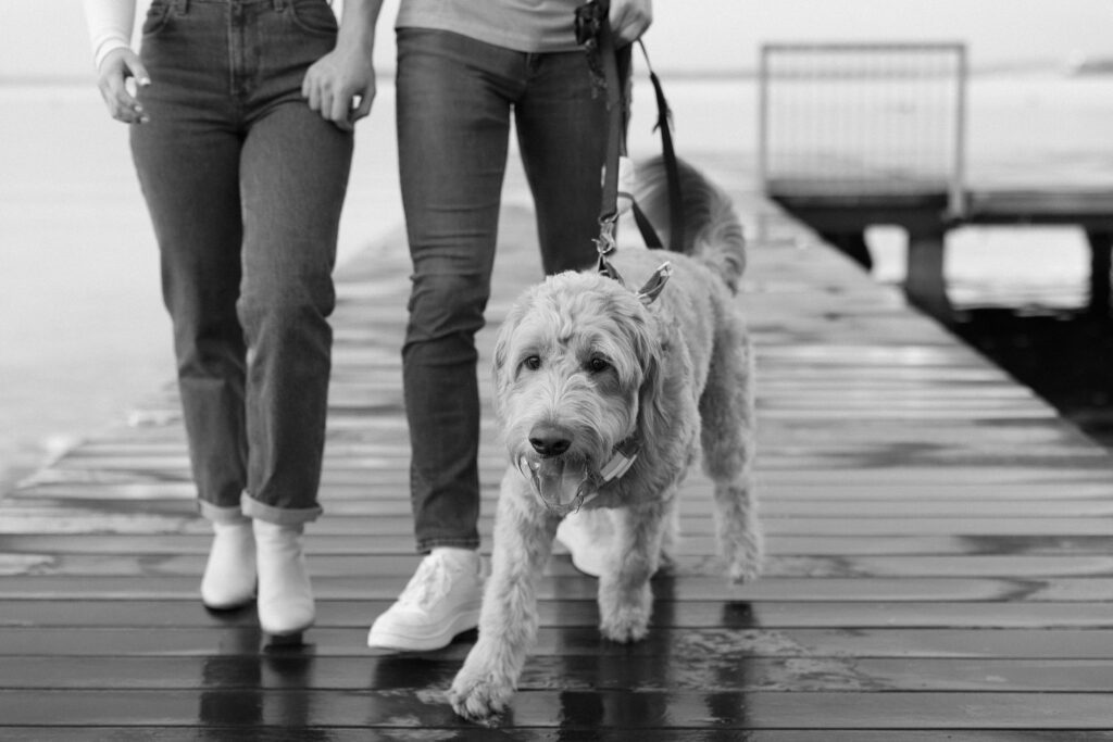
[[[945,195],[964,211],[966,48],[770,43],[758,166],[774,197]]]

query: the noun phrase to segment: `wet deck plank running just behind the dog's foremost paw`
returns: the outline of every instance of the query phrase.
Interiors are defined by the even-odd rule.
[[[411,691],[447,687],[459,660],[423,656],[321,656],[308,652],[206,656],[20,657],[0,666],[9,690],[180,690],[187,693],[259,689]],[[1105,660],[961,660],[936,657],[749,657],[745,662],[673,662],[664,673],[631,662],[603,671],[587,655],[534,656],[523,691],[564,689],[643,692],[1113,692]],[[7,738],[4,738],[7,739]]]

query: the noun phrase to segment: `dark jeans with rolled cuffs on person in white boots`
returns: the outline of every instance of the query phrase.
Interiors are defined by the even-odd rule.
[[[150,121],[131,151],[161,254],[201,512],[298,524],[321,513],[352,137],[302,99],[335,44],[325,0],[155,0]]]

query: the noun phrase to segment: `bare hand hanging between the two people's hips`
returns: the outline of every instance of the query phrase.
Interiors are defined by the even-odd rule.
[[[323,119],[344,131],[354,131],[355,122],[371,113],[375,100],[371,56],[338,44],[306,71],[302,96]]]

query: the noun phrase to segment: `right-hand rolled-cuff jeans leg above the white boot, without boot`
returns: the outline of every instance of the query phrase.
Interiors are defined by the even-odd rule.
[[[244,513],[296,525],[321,514],[332,270],[352,137],[303,101],[274,107],[244,141],[248,478]]]

